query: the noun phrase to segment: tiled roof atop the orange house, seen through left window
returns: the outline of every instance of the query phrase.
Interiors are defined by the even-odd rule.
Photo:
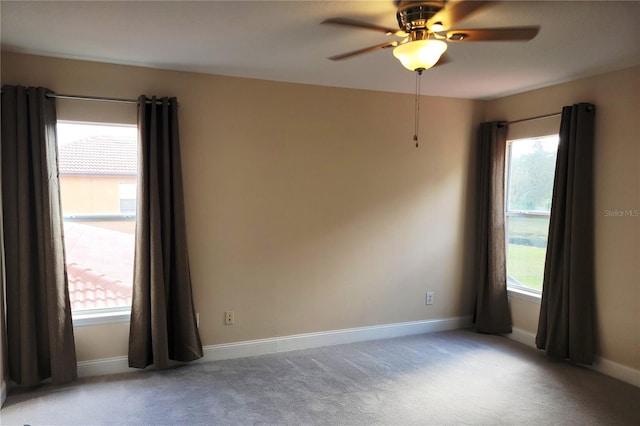
[[[63,144],[58,149],[60,175],[135,176],[135,138],[92,136]]]

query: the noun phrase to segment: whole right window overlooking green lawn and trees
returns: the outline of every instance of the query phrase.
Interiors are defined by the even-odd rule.
[[[542,291],[558,136],[508,142],[507,287]]]

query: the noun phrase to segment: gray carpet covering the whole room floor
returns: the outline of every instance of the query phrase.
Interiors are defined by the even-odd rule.
[[[640,425],[640,388],[451,331],[13,390],[2,425]]]

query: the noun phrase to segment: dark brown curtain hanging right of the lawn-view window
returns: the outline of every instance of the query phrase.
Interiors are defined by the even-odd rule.
[[[562,109],[536,346],[591,364],[594,346],[595,107]]]

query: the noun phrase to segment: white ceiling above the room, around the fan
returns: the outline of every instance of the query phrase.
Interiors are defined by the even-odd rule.
[[[391,49],[326,58],[389,41],[321,25],[329,17],[397,27],[380,1],[7,1],[2,49],[266,80],[412,93]],[[422,93],[491,99],[640,64],[640,1],[496,2],[454,28],[540,25],[527,43],[450,44]]]

